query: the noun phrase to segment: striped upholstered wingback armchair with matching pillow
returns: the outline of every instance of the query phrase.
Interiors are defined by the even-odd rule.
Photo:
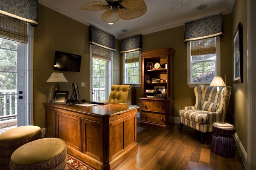
[[[226,90],[231,92],[231,87]],[[201,132],[201,142],[204,143],[204,133],[212,132],[213,122],[224,122],[230,95],[224,98],[225,87],[220,87],[220,93],[216,86],[197,86],[194,89],[196,102],[195,106],[185,107],[179,110],[180,131],[183,124]],[[226,104],[225,103],[226,100]]]

